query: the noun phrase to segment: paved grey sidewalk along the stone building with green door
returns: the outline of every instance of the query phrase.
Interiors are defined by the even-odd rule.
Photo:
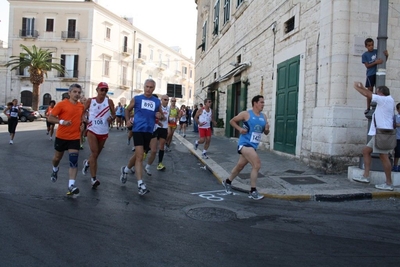
[[[186,138],[183,138],[177,129],[174,141],[184,144],[222,182],[223,179],[228,178],[239,158],[236,150],[237,138],[213,135],[207,151],[209,159],[202,159],[203,145],[199,145],[198,150],[194,150],[193,144],[198,139],[198,133],[192,130],[193,127],[189,126]],[[375,184],[384,183],[384,174],[380,172],[371,173],[370,184],[361,184],[351,179],[353,175],[362,173],[357,166],[350,167],[348,174],[325,175],[299,160],[266,150],[257,150],[257,152],[261,159],[257,190],[267,198],[297,201],[346,201],[400,197],[400,190],[396,187],[394,191],[375,189]],[[234,190],[249,191],[250,171],[251,166],[248,164],[233,181],[232,188]],[[393,173],[392,176],[396,176],[393,180],[394,185],[400,185],[400,173]],[[221,188],[223,188],[222,185]]]

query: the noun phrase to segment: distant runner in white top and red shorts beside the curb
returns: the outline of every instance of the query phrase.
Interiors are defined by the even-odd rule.
[[[194,120],[197,122],[199,127],[199,136],[198,140],[194,142],[194,149],[197,149],[199,144],[204,143],[202,158],[208,159],[207,149],[211,143],[211,123],[217,124],[217,122],[213,119],[213,114],[211,110],[212,101],[209,98],[204,100],[204,107],[199,109],[196,113]]]

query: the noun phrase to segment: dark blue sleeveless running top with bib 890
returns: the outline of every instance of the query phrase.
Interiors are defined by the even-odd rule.
[[[156,112],[160,109],[160,99],[151,96],[149,98],[144,95],[134,97],[134,123],[133,132],[153,133],[154,124],[156,123]]]

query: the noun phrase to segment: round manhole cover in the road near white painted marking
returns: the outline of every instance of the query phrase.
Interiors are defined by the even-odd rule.
[[[187,213],[192,219],[205,222],[226,222],[236,220],[236,213],[222,208],[194,208]]]

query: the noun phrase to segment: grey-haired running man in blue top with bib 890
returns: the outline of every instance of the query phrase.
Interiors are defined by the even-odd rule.
[[[134,110],[134,123],[132,131],[133,142],[135,144],[135,153],[128,161],[128,164],[121,167],[120,180],[123,184],[125,184],[128,173],[132,172],[132,167],[135,167],[134,170],[136,172],[139,195],[144,195],[149,192],[146,184],[142,180],[143,153],[149,150],[156,117],[159,120],[164,119],[160,100],[152,95],[155,88],[156,82],[153,79],[147,79],[144,83],[144,94],[137,95],[132,98],[125,110],[125,118],[129,118],[129,113],[132,111],[132,109]],[[131,125],[129,119],[127,119],[126,125]]]

